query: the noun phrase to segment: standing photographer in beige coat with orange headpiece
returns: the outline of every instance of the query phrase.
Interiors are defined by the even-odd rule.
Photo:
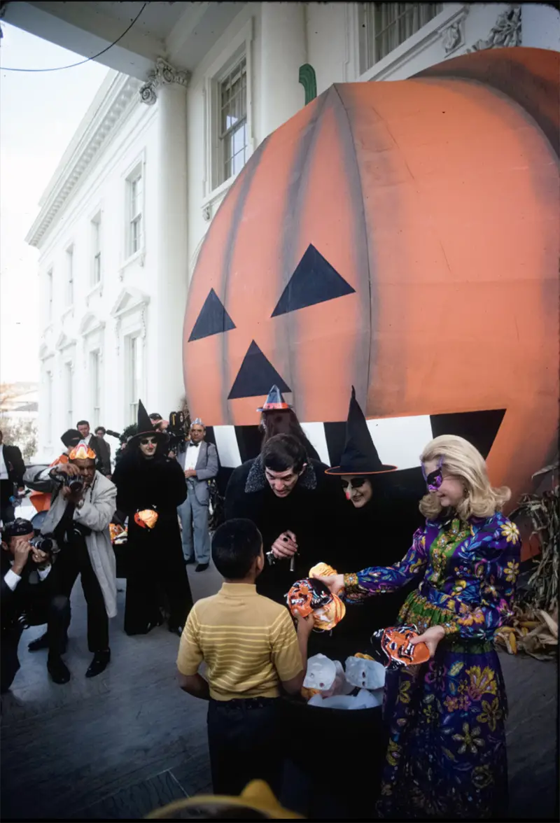
[[[86,677],[96,677],[110,662],[109,618],[117,613],[116,561],[109,532],[117,490],[96,471],[96,454],[83,443],[72,449],[68,463],[50,470],[47,482],[53,497],[41,534],[52,532],[60,546],[54,570],[57,593],[70,597],[77,576],[82,579],[87,643],[94,655]],[[67,632],[69,623],[68,611]],[[47,644],[43,635],[29,648],[36,651]]]

